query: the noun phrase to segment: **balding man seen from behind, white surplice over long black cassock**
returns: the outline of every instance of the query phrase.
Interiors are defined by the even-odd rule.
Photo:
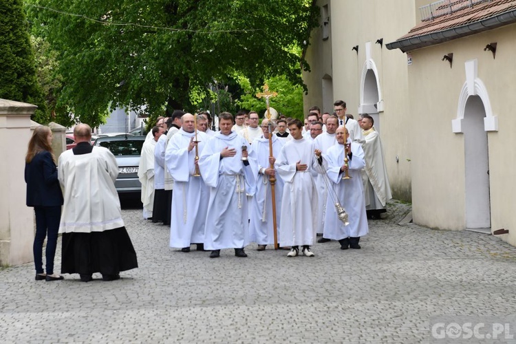
[[[107,148],[92,147],[89,125],[77,125],[74,136],[77,146],[58,162],[65,196],[61,272],[78,273],[84,282],[100,272],[104,281],[114,281],[120,271],[138,268],[115,189],[118,164]]]

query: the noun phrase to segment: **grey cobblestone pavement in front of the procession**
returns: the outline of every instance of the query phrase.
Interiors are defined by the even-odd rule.
[[[246,259],[209,259],[124,210],[140,268],[90,283],[34,281],[32,264],[0,270],[0,343],[429,343],[431,316],[514,312],[516,248],[400,226],[409,211],[391,202],[361,250],[332,241],[287,258],[251,244]]]

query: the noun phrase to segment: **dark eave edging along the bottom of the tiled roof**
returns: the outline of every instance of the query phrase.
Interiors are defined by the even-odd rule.
[[[407,39],[400,39],[399,41],[388,43],[385,46],[388,50],[400,49],[402,52],[408,52],[410,50],[428,47],[430,45],[451,41],[460,37],[470,36],[479,32],[493,30],[500,26],[512,23],[516,23],[516,9],[498,14],[495,17],[458,26],[457,28],[431,32],[429,34],[409,37]]]

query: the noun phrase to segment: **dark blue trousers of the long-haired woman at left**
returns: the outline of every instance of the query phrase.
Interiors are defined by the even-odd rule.
[[[54,255],[56,255],[57,233],[61,220],[61,206],[34,206],[36,213],[36,236],[34,237],[34,266],[36,274],[43,274],[43,241],[47,237],[46,268],[47,275],[54,274]]]

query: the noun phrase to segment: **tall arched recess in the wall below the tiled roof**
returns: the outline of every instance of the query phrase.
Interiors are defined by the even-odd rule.
[[[464,173],[466,229],[491,228],[486,109],[480,96],[469,96],[464,107]]]

